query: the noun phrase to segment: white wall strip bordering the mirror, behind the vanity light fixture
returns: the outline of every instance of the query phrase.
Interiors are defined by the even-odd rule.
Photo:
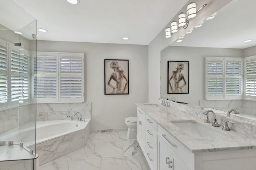
[[[189,21],[188,28],[180,29],[178,32],[173,34],[171,38],[164,37],[164,28],[163,30],[154,38],[154,40],[148,45],[148,100],[149,102],[156,102],[157,99],[160,97],[160,59],[161,54],[160,51],[174,42],[178,37],[184,35],[187,30],[194,28],[194,26],[198,25],[200,22],[205,20],[208,16],[228,4],[228,2],[232,0],[189,0],[186,4],[190,3],[191,1],[196,2],[198,6],[202,6],[203,4],[207,3],[207,6],[204,10],[200,11],[196,18],[193,18]],[[179,9],[179,8],[178,8]],[[177,12],[177,15],[171,19],[177,20],[177,16],[180,12],[186,11],[186,5]],[[169,23],[170,23],[169,22]],[[168,24],[170,26],[170,24]]]

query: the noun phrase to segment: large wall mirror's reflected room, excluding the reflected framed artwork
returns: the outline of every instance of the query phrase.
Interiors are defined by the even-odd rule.
[[[163,49],[161,96],[165,99],[175,97],[194,107],[215,109],[223,115],[236,109],[240,114],[232,112],[230,117],[256,123],[256,71],[253,69],[256,65],[256,22],[251,22],[255,6],[255,0],[232,1],[214,17],[203,21],[202,26],[194,28],[191,34],[180,38],[182,42],[173,42]],[[206,57],[214,59],[210,62]],[[190,62],[189,94],[168,94],[167,61]],[[172,71],[169,70],[169,75]],[[216,86],[212,95],[211,85]]]

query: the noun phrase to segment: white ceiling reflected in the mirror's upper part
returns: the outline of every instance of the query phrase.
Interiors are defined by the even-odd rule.
[[[204,22],[172,46],[244,49],[256,45],[256,0],[233,0],[215,18]],[[244,43],[244,40],[252,40]]]

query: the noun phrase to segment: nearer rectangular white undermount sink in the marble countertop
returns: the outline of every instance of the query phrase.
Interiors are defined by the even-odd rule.
[[[196,121],[170,121],[172,124],[182,129],[186,134],[194,137],[217,137],[226,136],[214,128],[202,125]]]

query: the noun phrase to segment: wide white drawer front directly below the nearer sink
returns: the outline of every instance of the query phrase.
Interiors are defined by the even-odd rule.
[[[190,152],[185,146],[183,146],[178,140],[176,140],[171,134],[169,134],[164,128],[160,125],[157,127],[158,135],[165,138],[166,143],[170,146],[170,148],[182,158],[182,161],[186,163],[186,165],[192,169],[192,152]]]

